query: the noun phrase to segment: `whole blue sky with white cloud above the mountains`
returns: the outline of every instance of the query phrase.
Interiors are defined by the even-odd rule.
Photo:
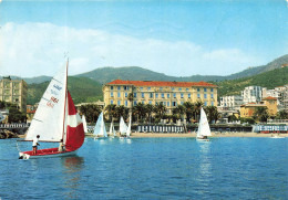
[[[0,75],[142,66],[167,75],[228,75],[288,52],[286,0],[6,1]]]

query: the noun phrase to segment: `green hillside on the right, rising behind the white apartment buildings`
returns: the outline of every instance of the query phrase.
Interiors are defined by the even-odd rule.
[[[218,96],[240,95],[244,87],[256,85],[268,90],[288,84],[288,66],[271,70],[249,77],[214,83],[218,85]]]

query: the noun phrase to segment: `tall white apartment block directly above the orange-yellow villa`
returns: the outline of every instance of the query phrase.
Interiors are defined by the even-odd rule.
[[[248,103],[259,103],[263,98],[263,88],[260,86],[248,86],[241,92],[243,102]]]

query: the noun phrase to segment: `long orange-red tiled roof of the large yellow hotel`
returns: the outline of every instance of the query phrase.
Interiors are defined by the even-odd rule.
[[[123,81],[115,80],[106,83],[106,85],[135,85],[135,86],[172,86],[172,87],[192,87],[192,86],[207,86],[217,87],[207,82],[158,82],[158,81]]]

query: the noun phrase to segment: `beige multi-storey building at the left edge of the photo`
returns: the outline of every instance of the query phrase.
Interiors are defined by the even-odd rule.
[[[27,110],[28,85],[23,80],[0,80],[0,101],[16,104],[21,112]]]

